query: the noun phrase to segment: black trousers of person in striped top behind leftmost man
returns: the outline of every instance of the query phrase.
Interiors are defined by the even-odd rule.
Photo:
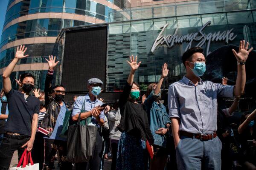
[[[35,133],[35,141],[31,155],[33,162],[38,163],[39,170],[42,170],[44,164],[44,134],[41,132]]]

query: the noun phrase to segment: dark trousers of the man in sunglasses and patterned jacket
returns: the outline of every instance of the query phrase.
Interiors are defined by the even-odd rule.
[[[52,170],[54,165],[55,155],[59,153],[60,160],[60,170],[72,170],[72,163],[66,161],[67,158],[67,142],[61,140],[45,139],[45,164],[44,170]]]

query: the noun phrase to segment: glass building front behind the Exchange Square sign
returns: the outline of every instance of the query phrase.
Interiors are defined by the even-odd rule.
[[[169,76],[163,83],[163,89],[168,89],[171,83],[185,74],[181,56],[187,48],[201,46],[205,55],[211,56],[212,51],[225,45],[238,46],[240,40],[250,42],[252,47],[256,45],[255,0],[193,0],[134,7],[109,12],[109,22],[108,91],[119,91],[125,85],[130,71],[126,60],[131,54],[142,61],[136,72],[136,81],[142,89],[151,82],[157,82],[161,65],[168,63]],[[154,42],[161,38],[160,35],[163,37],[154,48]],[[232,64],[236,68],[234,56],[214,57],[216,63],[221,58],[228,59],[230,63],[227,62],[226,67]],[[212,58],[209,61],[214,62]],[[236,81],[233,68],[214,70],[208,67],[208,64],[212,65],[210,62],[207,63],[207,71],[213,74],[211,80],[221,80],[225,76],[230,82]],[[248,64],[248,70],[253,70],[249,67]],[[256,78],[254,73],[248,81]]]

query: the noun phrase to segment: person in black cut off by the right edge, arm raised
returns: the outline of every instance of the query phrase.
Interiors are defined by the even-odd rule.
[[[241,116],[241,123],[238,127],[239,139],[241,142],[242,155],[240,164],[247,170],[256,169],[256,155],[253,150],[256,149],[256,109],[251,113],[249,111]]]

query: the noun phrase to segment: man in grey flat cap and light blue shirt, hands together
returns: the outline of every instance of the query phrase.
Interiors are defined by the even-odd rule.
[[[103,82],[100,79],[92,78],[88,80],[89,93],[85,96],[79,96],[73,107],[72,119],[73,121],[78,120],[79,113],[81,113],[82,106],[84,105],[84,112],[81,113],[81,120],[91,117],[91,121],[88,125],[97,126],[99,129],[105,122],[104,108],[100,108],[103,104],[97,96],[102,91]],[[90,170],[99,170],[101,162],[101,150],[102,150],[102,134],[100,130],[96,134],[96,146],[94,150],[93,159],[88,162]],[[87,162],[76,164],[76,170],[86,169]]]

